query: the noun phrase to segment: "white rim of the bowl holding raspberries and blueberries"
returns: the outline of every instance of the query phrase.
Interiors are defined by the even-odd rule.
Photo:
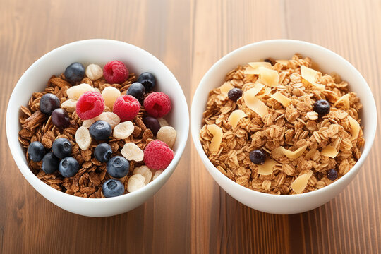
[[[18,146],[20,146],[20,143],[19,142],[13,142],[13,140],[11,138],[10,130],[11,130],[12,126],[11,126],[11,121],[10,120],[13,119],[14,117],[18,117],[18,115],[17,116],[12,116],[11,115],[11,109],[10,109],[11,103],[14,100],[16,100],[16,93],[15,93],[16,87],[20,86],[22,83],[25,83],[25,81],[24,81],[25,77],[30,75],[30,73],[33,71],[33,69],[36,68],[36,66],[38,66],[40,64],[40,62],[45,61],[45,59],[47,57],[49,57],[50,55],[56,54],[56,52],[70,50],[71,47],[78,47],[79,45],[82,45],[82,44],[91,44],[91,45],[98,44],[99,47],[102,47],[102,45],[103,46],[107,45],[107,47],[112,47],[113,45],[118,44],[118,45],[123,45],[123,47],[130,47],[130,49],[133,49],[133,50],[139,52],[139,54],[143,54],[143,55],[151,57],[152,61],[155,61],[155,64],[163,66],[164,71],[166,71],[165,75],[169,75],[169,77],[172,80],[174,80],[174,85],[179,86],[180,91],[181,91],[181,94],[179,94],[179,97],[182,97],[183,101],[186,102],[186,97],[185,97],[185,95],[183,93],[183,89],[182,89],[181,85],[179,84],[179,81],[174,76],[174,74],[169,70],[169,68],[162,61],[157,59],[157,57],[154,56],[153,54],[150,54],[150,52],[145,51],[145,49],[142,49],[142,48],[140,48],[138,46],[135,46],[133,44],[130,44],[128,42],[122,42],[122,41],[119,41],[119,40],[110,40],[110,39],[78,40],[78,41],[70,42],[70,43],[67,43],[67,44],[63,44],[60,47],[56,47],[56,48],[52,49],[51,51],[47,52],[46,54],[41,56],[39,59],[37,59],[35,62],[33,62],[32,65],[30,65],[28,67],[28,69],[23,73],[23,75],[21,75],[21,77],[18,79],[15,87],[13,87],[11,96],[8,99],[7,110],[6,110],[6,138],[7,138],[7,141],[8,141],[8,146],[9,146],[9,149],[11,150],[11,155],[13,157],[13,160],[16,162],[16,165],[17,165],[18,169],[20,170],[20,172],[23,174],[25,180],[27,180],[28,183],[30,183],[30,185],[33,188],[35,188],[35,190],[37,192],[39,192],[39,193],[40,193],[40,191],[37,190],[35,185],[32,184],[26,178],[25,174],[28,175],[33,180],[38,180],[38,181],[35,181],[35,184],[38,186],[38,188],[40,190],[43,190],[44,192],[46,191],[47,193],[52,193],[52,195],[56,196],[57,198],[66,199],[68,202],[70,202],[70,201],[73,201],[73,202],[80,201],[80,202],[95,203],[95,204],[96,203],[102,203],[102,202],[111,202],[111,201],[112,202],[118,202],[118,201],[123,202],[123,200],[125,200],[125,199],[134,198],[135,196],[139,196],[141,193],[149,192],[150,189],[155,188],[156,185],[161,183],[162,180],[167,177],[167,175],[169,175],[168,176],[168,179],[169,179],[171,174],[176,169],[177,164],[179,163],[179,160],[181,159],[181,156],[183,155],[183,151],[185,150],[186,143],[187,143],[187,140],[188,140],[188,135],[189,135],[189,109],[188,109],[188,104],[187,103],[185,103],[185,108],[181,109],[181,110],[183,110],[183,116],[184,116],[183,121],[185,121],[185,123],[186,123],[185,124],[185,131],[183,132],[184,136],[181,139],[178,136],[178,139],[180,140],[180,142],[179,142],[179,145],[178,145],[176,151],[174,151],[175,152],[174,159],[172,159],[171,163],[167,167],[167,169],[169,169],[169,170],[164,170],[163,173],[160,174],[159,176],[157,176],[157,178],[155,179],[157,181],[151,181],[150,183],[147,183],[143,188],[140,188],[137,191],[133,191],[132,193],[126,193],[126,194],[123,194],[123,195],[120,195],[120,196],[116,196],[116,197],[111,197],[111,198],[83,198],[83,197],[77,197],[75,195],[64,193],[62,191],[56,190],[55,188],[52,188],[51,186],[47,185],[46,183],[44,183],[43,181],[38,179],[37,176],[32,173],[32,171],[30,170],[28,164],[23,162],[23,156],[25,156],[25,155],[20,155],[19,152],[16,152],[16,148]],[[166,181],[164,181],[164,183]],[[163,185],[164,185],[164,183],[163,183]],[[153,195],[155,195],[155,193]],[[40,193],[40,194],[42,194],[42,193]],[[152,195],[150,195],[150,196],[152,196]],[[50,202],[52,202],[52,201],[50,201]]]

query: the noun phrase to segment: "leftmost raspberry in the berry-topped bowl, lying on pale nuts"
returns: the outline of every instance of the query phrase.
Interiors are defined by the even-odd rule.
[[[100,92],[85,92],[75,106],[75,111],[82,120],[92,119],[104,111],[104,99]]]

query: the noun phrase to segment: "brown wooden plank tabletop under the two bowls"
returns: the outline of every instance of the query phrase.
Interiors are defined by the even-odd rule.
[[[274,38],[306,40],[353,63],[380,107],[380,1],[0,4],[0,119],[33,61],[62,44],[96,37],[157,56],[181,83],[189,106],[202,75],[231,50]],[[126,214],[89,218],[52,205],[23,179],[4,120],[1,127],[0,253],[381,253],[380,135],[350,186],[303,214],[265,214],[241,205],[207,174],[189,140],[179,167],[153,198]]]

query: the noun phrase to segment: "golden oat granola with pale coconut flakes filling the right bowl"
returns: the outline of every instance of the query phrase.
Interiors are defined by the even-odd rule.
[[[272,64],[238,66],[210,91],[202,147],[222,174],[252,190],[296,194],[323,188],[361,156],[362,104],[339,75],[314,71],[308,57],[267,62]],[[235,88],[243,92],[236,101],[228,96]],[[329,102],[328,114],[314,111],[318,100]],[[265,152],[265,164],[250,160],[253,150]]]

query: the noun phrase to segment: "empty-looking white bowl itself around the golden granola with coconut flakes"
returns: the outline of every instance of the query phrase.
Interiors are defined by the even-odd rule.
[[[214,165],[207,159],[199,135],[202,112],[205,111],[207,96],[210,90],[224,83],[225,74],[236,68],[238,65],[248,63],[249,61],[259,61],[272,57],[274,59],[291,59],[294,53],[301,53],[303,56],[309,56],[316,62],[320,70],[324,73],[338,73],[343,80],[349,83],[349,89],[357,92],[358,97],[363,104],[362,126],[364,126],[365,146],[363,154],[358,159],[356,165],[341,179],[334,183],[310,193],[298,195],[272,195],[260,193],[258,191],[245,188],[229,178],[224,176]],[[226,56],[219,59],[217,63],[207,71],[202,78],[200,84],[193,95],[191,109],[191,132],[193,143],[200,155],[205,167],[212,175],[215,181],[221,186],[226,193],[248,207],[269,212],[272,214],[294,214],[298,212],[306,212],[312,210],[325,202],[328,202],[339,194],[346,187],[354,176],[358,173],[361,165],[368,156],[370,147],[372,147],[375,139],[375,131],[377,126],[377,111],[375,100],[372,92],[363,76],[354,68],[351,63],[346,61],[338,54],[320,47],[316,44],[301,42],[297,40],[267,40],[248,44],[244,47],[234,50]]]

